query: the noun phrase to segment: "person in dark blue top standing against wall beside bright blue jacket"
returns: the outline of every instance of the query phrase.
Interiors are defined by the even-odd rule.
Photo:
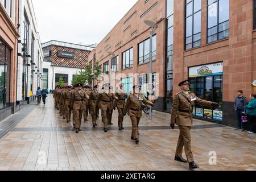
[[[243,96],[242,90],[238,90],[237,95],[238,96],[236,97],[236,100],[234,101],[234,109],[236,110],[237,122],[238,122],[238,127],[236,130],[245,131],[245,125],[242,122],[242,113],[243,113],[243,111],[245,111],[245,106],[247,105],[247,100],[246,100],[246,97]]]

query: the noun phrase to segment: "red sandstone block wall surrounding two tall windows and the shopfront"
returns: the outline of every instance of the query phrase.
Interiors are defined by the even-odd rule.
[[[233,102],[238,89],[247,97],[255,90],[251,86],[256,78],[253,0],[229,2],[229,38],[207,44],[207,1],[202,1],[201,46],[184,51],[184,0],[174,1],[174,94],[179,91],[177,84],[188,78],[188,67],[217,61],[224,63],[224,101]]]

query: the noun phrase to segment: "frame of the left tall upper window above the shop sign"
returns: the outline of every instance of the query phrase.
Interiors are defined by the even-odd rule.
[[[188,2],[187,3],[187,1],[184,1],[184,3],[185,3],[185,5],[184,5],[184,7],[185,7],[185,10],[184,10],[184,14],[185,14],[185,25],[184,25],[184,29],[185,29],[185,31],[184,31],[184,35],[185,35],[185,39],[184,39],[184,50],[185,51],[187,51],[187,50],[189,50],[189,49],[193,49],[193,48],[196,48],[196,47],[200,47],[201,45],[202,45],[202,1],[201,1],[201,9],[200,10],[197,10],[197,11],[195,11],[194,12],[194,3],[195,2],[195,0],[192,0],[191,2]],[[192,14],[191,15],[189,15],[189,16],[187,16],[187,5],[189,5],[189,3],[192,3]],[[194,16],[195,16],[195,14],[197,14],[197,13],[199,13],[199,12],[201,12],[200,14],[201,14],[201,19],[200,19],[200,32],[198,32],[197,34],[200,34],[200,46],[194,46],[194,36],[195,35],[197,35],[197,34],[194,34]],[[187,19],[189,18],[189,17],[192,17],[192,35],[191,36],[188,36],[187,37]],[[192,37],[192,47],[191,48],[187,48],[187,39],[188,38],[191,38]]]

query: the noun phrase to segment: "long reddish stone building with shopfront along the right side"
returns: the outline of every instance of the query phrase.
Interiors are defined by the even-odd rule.
[[[158,25],[152,41],[152,72],[158,74],[153,89],[159,96],[155,110],[170,112],[178,83],[189,78],[198,97],[220,104],[214,110],[196,106],[195,117],[236,127],[237,90],[247,98],[256,92],[255,7],[253,0],[139,0],[89,60],[95,54],[102,71],[110,75],[111,70],[112,82],[123,82],[128,92],[131,85],[144,86],[150,71],[150,28],[143,21],[151,20]],[[118,73],[125,75],[115,77]]]

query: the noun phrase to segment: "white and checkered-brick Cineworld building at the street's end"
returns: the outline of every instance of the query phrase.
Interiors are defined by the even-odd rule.
[[[42,44],[43,88],[55,89],[59,78],[64,79],[64,85],[71,85],[73,76],[79,74],[88,63],[88,55],[93,47],[80,44],[65,43],[51,40]]]

